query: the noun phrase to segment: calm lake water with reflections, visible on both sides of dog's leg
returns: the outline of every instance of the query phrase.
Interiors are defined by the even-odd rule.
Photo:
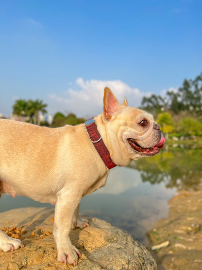
[[[104,219],[146,245],[146,232],[168,215],[168,200],[178,190],[201,188],[201,153],[201,149],[161,150],[129,167],[115,167],[103,188],[82,198],[80,213]],[[0,212],[27,206],[52,205],[26,197],[0,199]]]

